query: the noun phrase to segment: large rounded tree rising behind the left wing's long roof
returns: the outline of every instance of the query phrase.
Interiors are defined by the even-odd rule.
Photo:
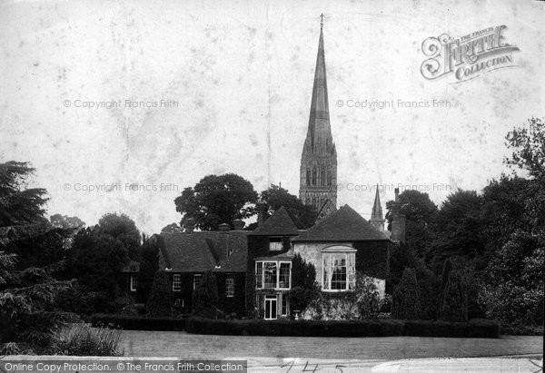
[[[185,188],[174,200],[176,211],[183,215],[181,225],[193,219],[195,227],[215,231],[222,223],[247,219],[255,214],[252,206],[257,193],[251,182],[234,173],[208,175],[193,188]]]

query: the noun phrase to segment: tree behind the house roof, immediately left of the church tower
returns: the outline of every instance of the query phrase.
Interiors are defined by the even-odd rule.
[[[316,221],[317,211],[312,206],[305,205],[299,198],[278,185],[271,184],[269,189],[262,191],[261,199],[269,205],[269,213],[272,214],[283,206],[301,222],[304,229],[312,227]]]

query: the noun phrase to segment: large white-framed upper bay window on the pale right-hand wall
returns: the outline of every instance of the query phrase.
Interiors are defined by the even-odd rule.
[[[352,290],[356,280],[356,250],[342,246],[328,249],[322,251],[322,290]]]

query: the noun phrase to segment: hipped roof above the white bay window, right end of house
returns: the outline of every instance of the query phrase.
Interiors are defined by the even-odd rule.
[[[293,241],[388,240],[370,222],[345,204]]]

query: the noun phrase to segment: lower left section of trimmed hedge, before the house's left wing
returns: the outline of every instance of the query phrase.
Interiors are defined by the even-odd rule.
[[[91,325],[125,330],[184,330],[185,320],[97,313],[91,316]]]

